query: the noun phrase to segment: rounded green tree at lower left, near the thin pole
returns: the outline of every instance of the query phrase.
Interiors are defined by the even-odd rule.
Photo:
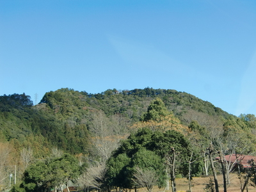
[[[63,191],[63,186],[67,186],[68,180],[76,181],[78,175],[77,159],[70,154],[63,154],[55,159],[31,164],[24,172],[20,189],[15,186],[13,191],[51,191],[52,188]]]

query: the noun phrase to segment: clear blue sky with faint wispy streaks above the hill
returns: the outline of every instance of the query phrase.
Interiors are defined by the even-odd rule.
[[[256,115],[255,83],[255,0],[0,0],[0,95],[152,87]]]

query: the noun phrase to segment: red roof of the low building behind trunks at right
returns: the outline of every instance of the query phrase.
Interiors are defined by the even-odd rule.
[[[216,157],[216,160],[219,160],[220,157]],[[249,167],[250,163],[248,161],[254,160],[256,162],[256,157],[255,156],[246,156],[246,155],[240,155],[240,154],[232,154],[225,156],[226,161],[230,161],[231,163],[234,163],[237,161],[237,163],[242,164],[243,167]]]

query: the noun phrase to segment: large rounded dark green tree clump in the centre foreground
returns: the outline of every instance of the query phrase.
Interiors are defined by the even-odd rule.
[[[175,154],[173,154],[172,148],[175,148]],[[155,153],[156,155],[154,155]],[[127,172],[129,172],[129,168],[134,169],[136,167],[139,167],[140,170],[147,170],[148,168],[157,170],[157,175],[161,177],[161,179],[158,178],[157,182],[159,186],[164,186],[166,182],[163,182],[163,178],[166,179],[166,175],[169,174],[168,170],[172,170],[172,182],[175,185],[175,174],[187,174],[186,157],[191,154],[191,147],[189,141],[180,132],[153,132],[150,129],[144,128],[131,134],[127,140],[122,141],[120,147],[115,150],[111,158],[115,159],[120,154],[125,154],[125,156],[131,158],[131,163],[126,169]],[[175,157],[179,158],[175,159]],[[156,163],[157,158],[163,159],[164,162],[161,160],[161,163]],[[108,161],[108,163],[115,161],[114,159]],[[157,166],[161,164],[162,168],[166,168],[166,172],[163,172],[162,168],[156,167],[156,164]],[[108,168],[107,173],[109,170]],[[164,176],[159,173],[159,170],[161,170],[161,173],[164,173]],[[116,175],[118,174],[116,173]],[[131,175],[131,173],[127,173],[122,179],[127,179],[125,177],[132,178]]]

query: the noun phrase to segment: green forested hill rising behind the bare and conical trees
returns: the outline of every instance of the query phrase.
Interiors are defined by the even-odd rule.
[[[38,157],[46,155],[53,146],[73,154],[87,153],[93,124],[100,115],[106,126],[118,127],[120,133],[115,134],[122,135],[127,133],[127,127],[140,120],[156,97],[184,125],[192,120],[200,123],[214,116],[230,116],[210,102],[175,90],[145,88],[118,92],[113,89],[92,94],[61,88],[45,93],[36,106],[24,93],[1,96],[1,141],[15,142],[17,148],[31,146]]]

